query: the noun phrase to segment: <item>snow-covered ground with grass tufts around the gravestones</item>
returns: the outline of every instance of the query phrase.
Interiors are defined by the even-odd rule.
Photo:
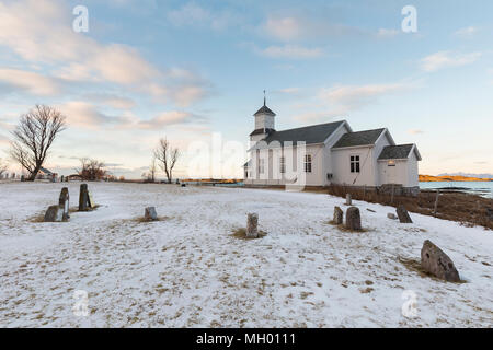
[[[68,185],[72,207],[79,185]],[[419,214],[400,224],[392,208],[357,201],[367,232],[349,233],[328,224],[342,198],[137,184],[89,184],[96,211],[32,222],[61,187],[0,184],[0,327],[493,326],[492,231]],[[165,220],[135,220],[147,206]],[[231,236],[248,212],[267,236]],[[467,283],[401,262],[426,238]],[[87,317],[72,311],[78,290]],[[416,318],[402,315],[404,291]]]

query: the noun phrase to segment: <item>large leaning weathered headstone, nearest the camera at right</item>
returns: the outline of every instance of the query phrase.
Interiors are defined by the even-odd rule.
[[[452,260],[428,240],[424,242],[421,249],[421,267],[439,279],[460,282],[459,272]]]

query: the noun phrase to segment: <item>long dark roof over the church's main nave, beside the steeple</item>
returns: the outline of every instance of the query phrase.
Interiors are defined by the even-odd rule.
[[[285,142],[306,142],[306,144],[324,142],[345,120],[313,125],[305,128],[274,131],[262,141],[270,144],[278,141],[284,145]]]

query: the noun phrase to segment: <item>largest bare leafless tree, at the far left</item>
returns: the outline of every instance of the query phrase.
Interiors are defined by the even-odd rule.
[[[57,135],[65,130],[65,116],[55,108],[36,105],[22,115],[11,142],[10,155],[34,182]]]

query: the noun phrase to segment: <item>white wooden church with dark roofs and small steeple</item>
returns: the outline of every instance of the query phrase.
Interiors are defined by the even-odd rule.
[[[346,120],[277,131],[264,98],[254,114],[245,185],[398,185],[419,191],[415,144],[395,144],[387,128],[353,131]]]

